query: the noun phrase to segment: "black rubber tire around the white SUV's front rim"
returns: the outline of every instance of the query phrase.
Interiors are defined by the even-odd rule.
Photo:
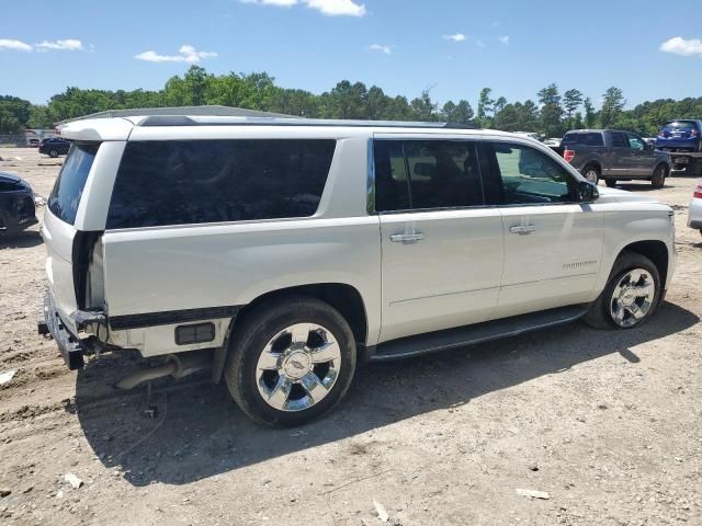
[[[622,278],[624,278],[630,271],[635,268],[643,268],[653,277],[655,287],[654,298],[650,308],[643,319],[631,327],[622,327],[614,321],[611,313],[612,295],[614,293],[614,288]],[[610,273],[610,277],[604,286],[604,290],[602,290],[602,294],[600,294],[592,305],[590,305],[590,308],[587,315],[582,318],[582,321],[593,329],[632,329],[634,327],[639,327],[652,317],[658,307],[658,302],[660,301],[660,274],[653,261],[637,252],[622,252],[612,266],[612,272]]]

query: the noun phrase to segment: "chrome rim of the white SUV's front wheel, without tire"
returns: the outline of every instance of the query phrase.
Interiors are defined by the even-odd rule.
[[[656,296],[654,278],[643,268],[629,271],[612,291],[610,313],[620,327],[633,327],[650,310]]]

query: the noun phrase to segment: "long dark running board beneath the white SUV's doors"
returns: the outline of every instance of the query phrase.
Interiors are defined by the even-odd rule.
[[[385,362],[408,358],[410,356],[489,342],[500,338],[517,336],[526,332],[575,321],[587,312],[588,307],[587,305],[575,305],[542,310],[541,312],[532,312],[513,318],[393,340],[376,345],[375,352],[369,353],[369,359],[371,362]]]

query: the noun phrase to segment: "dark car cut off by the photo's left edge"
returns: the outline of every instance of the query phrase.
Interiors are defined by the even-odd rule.
[[[13,236],[36,225],[34,192],[11,173],[0,172],[0,237]]]

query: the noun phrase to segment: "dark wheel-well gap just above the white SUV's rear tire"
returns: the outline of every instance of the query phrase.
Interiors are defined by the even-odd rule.
[[[353,331],[353,336],[358,343],[365,345],[367,336],[367,318],[365,306],[361,294],[351,285],[342,283],[319,283],[314,285],[301,285],[297,287],[282,288],[259,296],[249,305],[244,307],[237,318],[246,316],[248,311],[263,301],[275,300],[288,294],[310,296],[329,304],[337,309],[347,320]]]

